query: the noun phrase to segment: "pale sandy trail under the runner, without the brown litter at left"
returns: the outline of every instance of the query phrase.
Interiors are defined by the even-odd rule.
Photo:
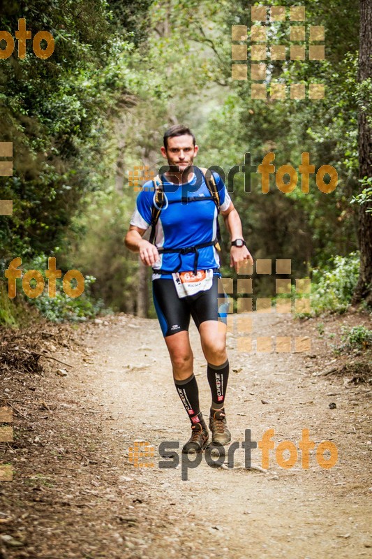
[[[233,469],[209,467],[204,457],[195,469],[158,467],[163,460],[159,444],[179,441],[181,458],[190,426],[174,389],[157,321],[133,318],[128,323],[123,317],[92,334],[90,345],[96,364],[89,370],[89,379],[97,401],[112,416],[104,424],[107,439],[121,460],[122,474],[140,480],[147,495],[144,509],[152,509],[154,514],[158,503],[172,513],[165,539],[156,537],[156,528],[152,535],[151,527],[141,533],[138,526],[142,542],[138,543],[133,532],[135,548],[143,546],[142,557],[186,558],[191,550],[198,558],[372,556],[367,535],[371,521],[366,498],[368,437],[364,435],[368,400],[355,400],[360,390],[346,389],[341,379],[332,381],[332,386],[329,377],[315,376],[327,369],[327,363],[321,356],[322,342],[317,342],[308,328],[292,317],[278,319],[275,314],[253,313],[254,338],[311,337],[311,351],[300,353],[239,354],[234,336],[228,335],[231,372],[226,411],[232,441],[239,442]],[[201,409],[207,416],[210,392],[206,364],[193,324],[191,344]],[[337,402],[336,409],[329,409],[330,402]],[[270,451],[267,473],[248,471],[241,449],[248,428],[255,441],[274,428],[276,446],[280,440],[290,440],[297,448],[302,429],[308,428],[315,444],[322,440],[336,444],[338,463],[324,469],[313,451],[310,467],[305,470],[299,451],[295,466],[284,469],[276,463],[275,451]],[[135,440],[154,447],[154,467],[128,463],[128,449]],[[261,456],[259,449],[252,451],[253,465],[262,465]],[[140,460],[151,462],[149,458]],[[181,479],[182,474],[187,481]]]

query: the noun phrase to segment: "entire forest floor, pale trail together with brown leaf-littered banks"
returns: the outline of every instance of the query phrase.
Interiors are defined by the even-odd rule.
[[[67,371],[48,359],[42,375],[2,377],[15,407],[15,443],[5,447],[15,473],[0,485],[0,559],[371,557],[371,387],[320,375],[336,365],[327,339],[369,319],[251,316],[253,339],[292,337],[292,353],[242,353],[228,335],[231,468],[209,467],[205,453],[198,467],[181,466],[190,423],[155,319],[117,314],[68,327],[73,342],[63,326],[45,326],[45,349]],[[311,349],[293,351],[295,337],[310,339]],[[191,343],[207,418],[206,363],[193,324]],[[247,470],[245,430],[260,441],[270,428],[269,468]],[[307,470],[300,451],[290,469],[278,464],[278,443],[298,449],[302,429],[317,447],[336,445],[334,467],[320,467],[315,451]],[[130,462],[135,440],[154,447],[154,458],[140,457],[153,467]],[[165,441],[179,442],[178,467],[159,467]],[[261,450],[251,454],[261,467]]]

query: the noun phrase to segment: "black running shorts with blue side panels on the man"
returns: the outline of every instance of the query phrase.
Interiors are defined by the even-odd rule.
[[[165,337],[183,330],[188,331],[191,317],[198,329],[206,320],[221,320],[227,324],[228,296],[225,291],[218,293],[218,276],[214,275],[212,286],[207,291],[181,299],[177,295],[173,279],[153,280],[154,306]]]

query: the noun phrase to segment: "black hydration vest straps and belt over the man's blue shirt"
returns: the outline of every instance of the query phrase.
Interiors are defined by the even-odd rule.
[[[216,185],[216,181],[214,180],[214,176],[211,174],[209,177],[207,177],[207,175],[206,175],[207,169],[205,169],[205,168],[201,168],[200,170],[202,171],[202,175],[204,177],[205,184],[207,184],[207,188],[209,190],[210,196],[188,196],[187,198],[181,198],[181,200],[168,201],[165,198],[163,182],[161,180],[161,177],[159,177],[159,175],[156,175],[156,177],[154,177],[154,179],[152,180],[152,182],[154,184],[155,194],[154,194],[154,203],[153,203],[152,209],[151,209],[151,233],[150,233],[149,242],[151,242],[153,245],[155,245],[155,228],[156,228],[156,224],[158,223],[159,217],[161,215],[161,210],[163,210],[163,208],[166,207],[168,204],[213,200],[214,203],[216,204],[217,212],[219,214],[219,212],[220,212],[220,194],[218,192],[218,188],[217,188],[217,185]],[[182,265],[181,254],[189,254],[189,253],[193,252],[195,254],[193,273],[196,275],[196,273],[198,272],[198,257],[199,257],[198,249],[202,249],[204,247],[214,246],[214,247],[216,247],[218,252],[221,251],[221,246],[220,246],[221,231],[220,231],[220,226],[219,226],[219,223],[218,223],[218,214],[217,214],[216,238],[214,240],[211,240],[209,242],[202,242],[199,245],[193,245],[192,247],[182,247],[182,248],[173,248],[173,249],[167,249],[167,248],[159,247],[158,248],[159,254],[179,253],[179,266],[177,266],[177,268],[175,270],[163,270],[163,269],[154,270],[154,268],[153,268],[154,272],[158,273],[158,274],[172,274],[174,272],[178,272],[179,268],[181,268],[181,265]]]

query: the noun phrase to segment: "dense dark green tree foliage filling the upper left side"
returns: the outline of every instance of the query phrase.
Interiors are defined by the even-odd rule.
[[[0,217],[6,258],[52,251],[82,196],[103,187],[107,114],[127,92],[133,49],[105,0],[8,3],[2,29],[14,36],[19,17],[32,34],[51,31],[55,48],[42,60],[28,43],[24,60],[15,49],[0,65],[1,140],[13,142],[13,177],[0,177],[14,208]]]

